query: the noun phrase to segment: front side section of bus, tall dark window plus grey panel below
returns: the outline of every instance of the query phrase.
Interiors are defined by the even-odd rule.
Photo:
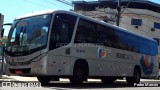
[[[68,75],[70,72],[70,46],[76,16],[57,13],[50,34],[49,42],[49,64],[53,63],[50,69],[54,75]],[[68,46],[67,46],[68,45]]]

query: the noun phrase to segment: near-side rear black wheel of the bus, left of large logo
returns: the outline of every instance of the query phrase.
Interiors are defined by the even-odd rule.
[[[134,84],[134,83],[139,83],[141,79],[141,72],[138,68],[134,69],[134,74],[133,77],[127,77],[126,81],[128,84]]]

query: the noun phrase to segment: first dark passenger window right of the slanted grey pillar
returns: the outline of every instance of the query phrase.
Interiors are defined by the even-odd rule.
[[[96,43],[95,23],[80,19],[75,36],[75,43]]]

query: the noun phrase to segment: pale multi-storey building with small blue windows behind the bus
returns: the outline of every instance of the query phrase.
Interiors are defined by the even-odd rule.
[[[118,0],[75,1],[74,11],[116,25]],[[121,0],[119,26],[160,42],[160,4],[148,0]],[[160,46],[159,46],[160,52]]]

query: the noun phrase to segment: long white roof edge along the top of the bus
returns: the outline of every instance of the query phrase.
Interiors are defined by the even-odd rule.
[[[112,25],[112,24],[109,24],[109,23],[106,23],[106,22],[102,22],[102,21],[94,19],[94,18],[90,18],[90,17],[84,16],[84,15],[81,15],[81,14],[78,14],[78,13],[75,13],[75,12],[65,11],[65,10],[43,10],[43,11],[38,11],[38,12],[33,12],[33,13],[22,15],[22,16],[17,17],[16,19],[22,19],[22,18],[37,16],[37,15],[51,14],[53,12],[63,12],[63,13],[70,13],[72,15],[78,15],[81,18],[84,18],[84,19],[87,19],[87,20],[92,20],[93,22],[97,22],[97,23],[100,23],[102,25],[109,26],[109,27],[112,27],[112,28],[116,28],[116,29],[118,29],[120,31],[127,32],[127,33],[132,34],[132,35],[136,35],[136,36],[139,36],[139,37],[143,37],[143,38],[155,41],[153,38],[149,38],[149,37],[146,37],[144,35],[140,35],[138,33],[132,32],[132,31],[128,31],[125,28],[118,27],[116,25]]]

